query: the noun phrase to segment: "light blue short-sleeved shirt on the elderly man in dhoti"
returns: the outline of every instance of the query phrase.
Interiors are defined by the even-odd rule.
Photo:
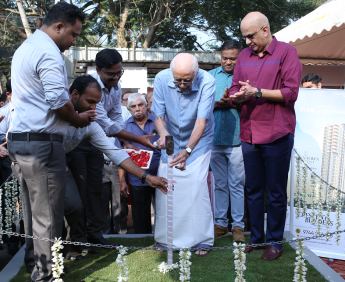
[[[166,129],[174,137],[174,155],[186,146],[197,118],[206,119],[202,137],[195,146],[186,164],[192,163],[211,149],[214,132],[214,91],[215,80],[208,72],[199,70],[192,87],[181,92],[173,83],[170,69],[157,74],[154,82],[152,111],[158,117],[165,117]],[[166,151],[162,161],[167,162]]]

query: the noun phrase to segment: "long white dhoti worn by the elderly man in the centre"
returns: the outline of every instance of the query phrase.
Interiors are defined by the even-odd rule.
[[[211,150],[201,155],[186,170],[173,169],[173,248],[213,246],[214,224],[207,186]],[[168,164],[160,162],[158,176],[167,178]],[[155,241],[166,247],[167,195],[156,190]]]

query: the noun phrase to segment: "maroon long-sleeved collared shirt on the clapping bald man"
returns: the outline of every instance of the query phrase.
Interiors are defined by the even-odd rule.
[[[250,81],[253,87],[279,89],[284,102],[251,97],[242,103],[240,140],[253,144],[271,143],[288,133],[295,133],[294,110],[301,81],[302,65],[296,49],[287,43],[273,41],[259,57],[252,48],[238,56],[229,95],[241,88],[239,81]]]

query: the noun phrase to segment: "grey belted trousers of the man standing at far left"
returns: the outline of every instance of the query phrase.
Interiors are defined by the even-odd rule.
[[[22,189],[27,234],[59,238],[62,234],[66,158],[58,141],[8,140],[9,156]],[[30,234],[30,235],[31,235]],[[52,281],[53,243],[34,240],[32,281]]]

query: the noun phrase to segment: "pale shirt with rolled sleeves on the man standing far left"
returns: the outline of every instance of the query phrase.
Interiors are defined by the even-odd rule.
[[[69,101],[66,65],[55,42],[43,31],[36,30],[14,53],[11,84],[10,132],[67,132],[69,123],[54,111]]]

